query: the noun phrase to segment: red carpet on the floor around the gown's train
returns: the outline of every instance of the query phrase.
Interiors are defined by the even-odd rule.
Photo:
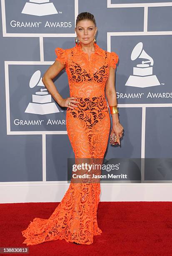
[[[27,247],[21,231],[57,205],[0,204],[0,247]],[[97,220],[103,233],[91,245],[49,241],[28,246],[29,255],[172,255],[172,202],[100,202]]]

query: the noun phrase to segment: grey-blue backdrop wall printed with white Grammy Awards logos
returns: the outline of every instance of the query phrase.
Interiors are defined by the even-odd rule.
[[[67,159],[75,155],[66,108],[41,78],[56,47],[75,46],[75,20],[85,11],[95,15],[97,44],[119,56],[115,87],[124,136],[120,147],[108,143],[105,159],[121,161],[116,174],[127,178],[114,182],[171,182],[172,2],[1,0],[1,9],[0,182],[67,179]],[[65,70],[54,82],[69,97]]]

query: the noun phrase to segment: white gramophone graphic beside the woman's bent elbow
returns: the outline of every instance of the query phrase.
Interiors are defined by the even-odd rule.
[[[40,70],[37,70],[30,79],[29,87],[33,88],[35,86],[42,86],[45,88]],[[51,95],[46,91],[47,88],[41,88],[40,92],[32,94],[32,102],[28,104],[25,113],[46,115],[60,112],[55,105],[55,102],[51,102]]]

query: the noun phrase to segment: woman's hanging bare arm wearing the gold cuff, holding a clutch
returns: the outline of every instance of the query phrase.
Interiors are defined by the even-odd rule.
[[[117,105],[117,95],[115,90],[115,69],[109,68],[109,77],[106,81],[105,94],[107,97],[108,105]],[[122,137],[123,127],[120,124],[118,113],[112,114],[113,130],[117,134],[118,143],[120,144],[120,137]]]

